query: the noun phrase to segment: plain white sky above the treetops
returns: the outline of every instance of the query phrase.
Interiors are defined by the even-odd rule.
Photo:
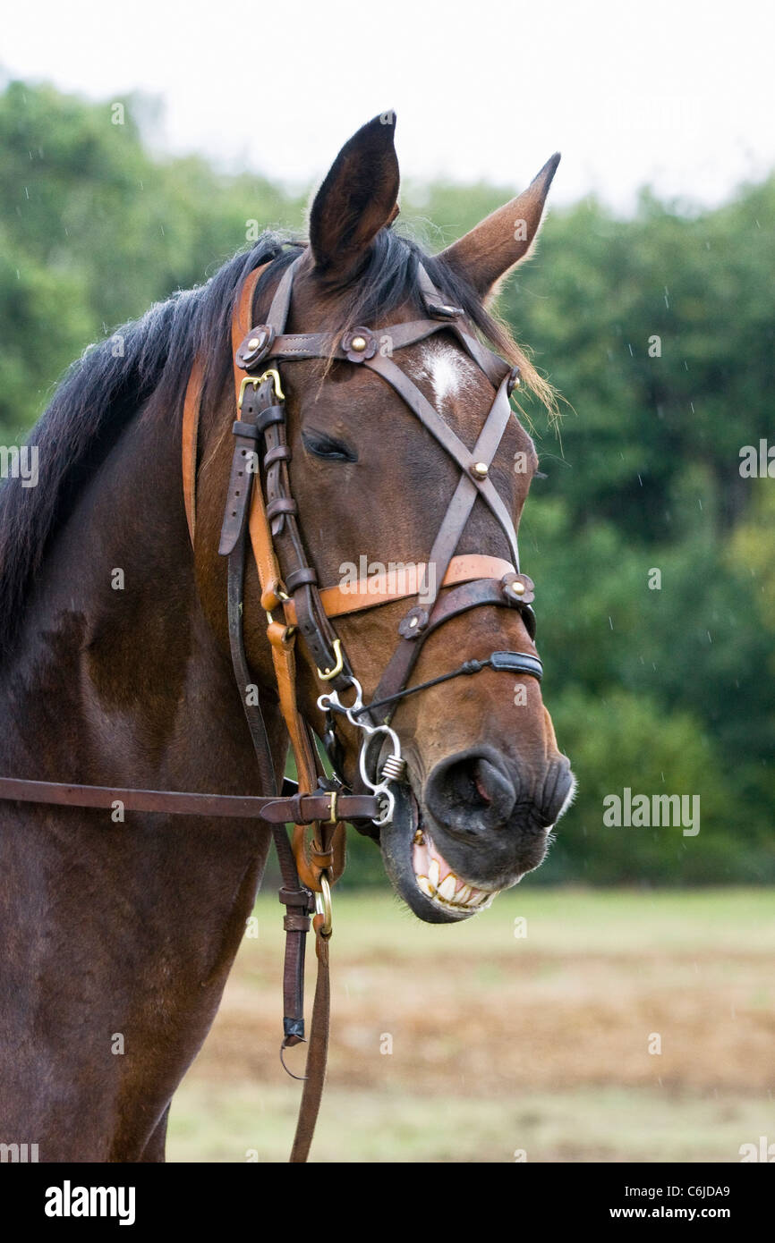
[[[394,108],[404,177],[714,204],[775,168],[771,0],[5,0],[0,66],[163,99],[162,142],[294,184]],[[267,101],[271,101],[269,103]]]

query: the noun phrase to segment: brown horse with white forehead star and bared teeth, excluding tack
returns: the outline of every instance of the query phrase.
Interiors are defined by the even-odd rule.
[[[393,118],[342,149],[317,193],[309,242],[265,235],[203,288],[152,308],[88,352],[31,435],[36,488],[0,493],[0,773],[146,789],[261,794],[235,686],[226,566],[218,556],[231,460],[229,324],[245,277],[260,323],[297,264],[290,332],[418,318],[419,272],[470,329],[550,390],[485,310],[529,251],[557,159],[530,188],[443,254],[391,227],[398,164]],[[420,268],[422,264],[422,268]],[[192,551],[180,481],[182,406],[194,358],[207,359]],[[493,385],[440,331],[401,365],[466,445]],[[366,557],[420,564],[459,470],[396,390],[346,360],[284,367],[299,523],[321,583]],[[526,464],[516,469],[515,464]],[[519,521],[536,455],[509,420],[490,469]],[[511,561],[501,526],[476,500],[459,554]],[[287,738],[274,692],[260,589],[245,583],[245,643],[275,768]],[[396,645],[406,600],[337,619],[368,702]],[[494,649],[532,654],[525,613],[475,608],[422,648],[429,681]],[[299,651],[297,695],[318,732],[315,660]],[[483,667],[398,702],[408,761],[387,870],[420,919],[471,915],[536,868],[573,779],[539,681]],[[357,731],[341,733],[345,778]],[[41,1161],[160,1161],[173,1093],[218,1009],[270,843],[255,820],[0,804],[0,1140],[35,1142]]]

